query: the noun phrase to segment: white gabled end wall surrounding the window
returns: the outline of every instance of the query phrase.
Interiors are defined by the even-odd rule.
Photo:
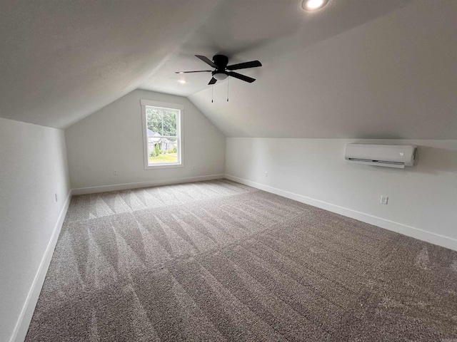
[[[141,99],[184,105],[184,167],[144,170]],[[189,100],[176,95],[134,90],[67,128],[65,136],[72,189],[104,191],[116,189],[103,187],[109,185],[152,185],[224,174],[224,135]]]

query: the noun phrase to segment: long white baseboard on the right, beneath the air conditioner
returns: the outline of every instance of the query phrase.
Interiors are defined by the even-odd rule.
[[[326,209],[329,212],[335,212],[336,214],[351,217],[352,219],[358,219],[359,221],[366,222],[368,224],[373,224],[377,227],[388,229],[393,232],[406,235],[408,237],[413,237],[415,239],[430,242],[431,244],[437,244],[438,246],[446,247],[448,249],[453,249],[454,251],[457,251],[457,240],[451,237],[445,237],[440,234],[427,232],[426,230],[414,228],[398,222],[393,222],[388,219],[381,219],[381,217],[376,217],[370,214],[365,214],[363,212],[358,212],[353,209],[340,207],[336,204],[331,204],[328,202],[320,201],[318,199],[298,195],[296,193],[281,190],[276,187],[270,187],[268,185],[263,185],[261,183],[252,182],[251,180],[244,180],[243,178],[238,178],[232,175],[225,175],[225,178],[228,180],[233,180],[233,182],[238,182],[244,185],[248,185],[250,187],[255,187],[256,189],[260,189],[266,192],[271,192],[276,195],[294,199],[298,202],[310,204],[313,207]]]

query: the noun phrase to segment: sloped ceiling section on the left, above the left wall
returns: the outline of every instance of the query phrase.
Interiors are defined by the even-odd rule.
[[[68,127],[138,88],[217,3],[1,1],[0,116]]]

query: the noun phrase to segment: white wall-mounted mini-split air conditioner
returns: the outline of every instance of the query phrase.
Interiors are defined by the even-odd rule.
[[[344,157],[350,162],[387,167],[413,166],[416,145],[348,144]]]

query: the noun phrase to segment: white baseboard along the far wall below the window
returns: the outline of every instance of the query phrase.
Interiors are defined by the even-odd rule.
[[[178,179],[174,179],[174,180],[152,180],[149,182],[103,185],[101,187],[80,187],[79,189],[73,189],[72,194],[73,195],[86,195],[86,194],[95,194],[97,192],[138,189],[139,187],[157,187],[159,185],[171,185],[171,184],[199,182],[201,180],[219,180],[221,178],[224,178],[224,175],[207,175],[207,176],[198,176],[198,177],[186,177],[186,178],[178,178]]]

